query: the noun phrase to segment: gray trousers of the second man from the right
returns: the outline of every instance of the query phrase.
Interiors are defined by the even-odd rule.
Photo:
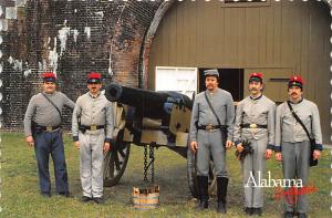
[[[260,208],[263,206],[263,188],[255,186],[260,184],[260,179],[264,177],[266,172],[266,150],[268,138],[259,141],[251,139],[252,154],[248,154],[241,162],[243,175],[243,193],[245,193],[245,207]],[[252,181],[255,179],[255,184]]]

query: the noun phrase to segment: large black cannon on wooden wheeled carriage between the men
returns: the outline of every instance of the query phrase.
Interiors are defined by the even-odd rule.
[[[178,92],[154,92],[112,83],[105,89],[114,112],[113,148],[104,156],[104,186],[114,186],[121,179],[129,157],[131,144],[144,146],[144,180],[152,168],[154,183],[154,148],[166,146],[187,158],[189,189],[198,196],[195,155],[188,149],[188,133],[193,101]],[[149,148],[151,163],[147,163]],[[215,176],[210,166],[210,193]]]

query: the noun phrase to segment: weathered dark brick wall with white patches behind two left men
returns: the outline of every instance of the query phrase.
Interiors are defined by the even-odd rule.
[[[3,42],[0,87],[6,129],[22,129],[30,97],[41,89],[40,74],[54,71],[59,90],[76,100],[86,75],[137,87],[142,43],[163,0],[158,1],[1,1]],[[12,10],[6,10],[12,9]],[[8,12],[8,13],[7,13]],[[69,129],[71,111],[64,111]]]

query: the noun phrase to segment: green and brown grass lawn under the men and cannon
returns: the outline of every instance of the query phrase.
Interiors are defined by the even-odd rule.
[[[139,211],[133,209],[131,191],[133,186],[143,185],[143,148],[133,145],[131,157],[117,186],[105,188],[106,204],[82,204],[79,173],[79,152],[73,147],[69,135],[64,135],[65,156],[69,170],[72,198],[63,198],[53,193],[52,198],[39,195],[37,163],[34,150],[24,143],[21,133],[0,133],[1,142],[1,199],[0,217],[220,217],[215,211],[215,199],[210,209],[196,211],[188,185],[186,159],[178,154],[162,147],[156,150],[155,181],[160,186],[160,206],[157,209]],[[239,162],[228,153],[229,191],[228,214],[224,217],[245,217],[242,212],[242,188]],[[309,195],[311,217],[331,217],[331,155],[330,149],[323,152],[319,167],[310,172],[310,184],[319,188]],[[50,165],[52,168],[52,165]],[[272,178],[281,178],[281,166],[269,160],[267,169]],[[53,170],[52,188],[54,187]],[[263,217],[280,217],[281,201],[273,199],[273,189],[267,188],[264,194]]]

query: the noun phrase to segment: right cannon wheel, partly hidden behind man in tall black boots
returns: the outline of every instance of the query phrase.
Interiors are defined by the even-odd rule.
[[[208,193],[209,195],[216,195],[216,189],[217,189],[217,177],[214,174],[214,162],[210,160],[210,166],[209,166],[209,189]],[[188,147],[187,150],[187,177],[188,177],[188,185],[190,193],[193,197],[198,198],[198,183],[197,183],[197,170],[196,170],[196,155],[190,150]]]

